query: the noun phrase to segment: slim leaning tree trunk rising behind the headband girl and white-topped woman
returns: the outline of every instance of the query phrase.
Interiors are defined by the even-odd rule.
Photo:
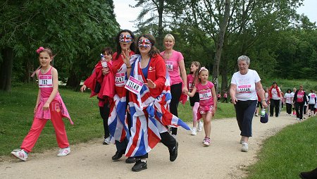
[[[221,50],[223,48],[223,38],[225,37],[225,30],[228,25],[230,16],[230,0],[225,0],[225,13],[222,20],[220,20],[220,27],[218,33],[218,40],[216,43],[216,54],[213,61],[213,82],[215,83],[216,94],[218,93],[218,75],[219,75],[219,64],[221,58]]]

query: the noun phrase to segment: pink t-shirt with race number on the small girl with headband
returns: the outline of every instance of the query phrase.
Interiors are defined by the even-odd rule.
[[[206,85],[201,85],[200,82],[196,84],[197,92],[199,93],[199,106],[213,105],[213,94],[211,93],[213,86],[210,81],[207,81]]]

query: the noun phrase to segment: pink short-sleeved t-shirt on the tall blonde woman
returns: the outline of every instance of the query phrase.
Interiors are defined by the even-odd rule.
[[[161,52],[161,56],[164,58],[165,51]],[[179,51],[172,51],[172,56],[170,58],[164,58],[166,64],[166,70],[168,70],[168,74],[170,75],[170,85],[178,84],[182,82],[182,78],[180,78],[180,61],[183,61],[184,57],[182,53]]]

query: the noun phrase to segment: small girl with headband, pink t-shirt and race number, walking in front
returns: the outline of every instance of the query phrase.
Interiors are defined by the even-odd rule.
[[[208,80],[209,71],[205,67],[199,70],[199,82],[195,85],[192,92],[188,93],[189,97],[194,97],[196,92],[199,93],[199,110],[197,112],[197,119],[201,116],[204,120],[204,146],[210,145],[211,133],[211,118],[216,113],[217,97],[216,90],[212,82]]]

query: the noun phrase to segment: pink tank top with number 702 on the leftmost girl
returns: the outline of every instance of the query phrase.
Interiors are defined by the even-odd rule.
[[[51,67],[52,69],[53,67]],[[39,90],[41,90],[41,97],[49,97],[53,91],[53,75],[51,75],[51,69],[45,74],[39,70]]]

